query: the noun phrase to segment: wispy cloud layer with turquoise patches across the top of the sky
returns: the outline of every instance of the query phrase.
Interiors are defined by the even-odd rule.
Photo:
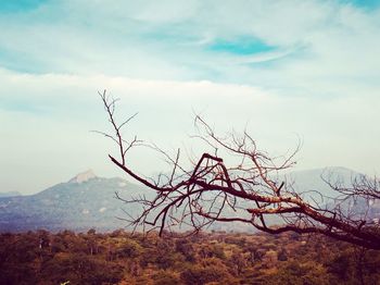
[[[0,36],[0,64],[40,74],[271,85],[284,94],[297,86],[300,94],[324,94],[334,89],[324,87],[325,78],[341,85],[344,77],[354,84],[378,77],[379,18],[379,10],[333,1],[46,2],[1,16],[8,28]]]

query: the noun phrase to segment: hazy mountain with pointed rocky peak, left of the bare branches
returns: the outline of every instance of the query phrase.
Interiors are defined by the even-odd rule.
[[[101,178],[88,171],[36,195],[0,198],[0,232],[121,228],[127,224],[117,219],[126,218],[123,210],[140,209],[127,207],[115,193],[125,198],[150,194],[125,179]]]

